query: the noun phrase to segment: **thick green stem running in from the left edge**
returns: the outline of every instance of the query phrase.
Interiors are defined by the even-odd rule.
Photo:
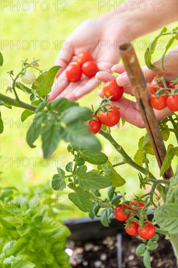
[[[36,111],[36,108],[37,108],[34,105],[25,103],[25,102],[23,102],[23,101],[21,101],[19,99],[10,98],[10,97],[5,96],[5,95],[3,95],[1,93],[0,93],[0,100],[2,100],[3,102],[5,102],[5,104],[9,104],[9,105],[12,105],[12,106],[24,108],[24,109],[27,109],[27,110],[33,111],[33,112],[35,112]]]

